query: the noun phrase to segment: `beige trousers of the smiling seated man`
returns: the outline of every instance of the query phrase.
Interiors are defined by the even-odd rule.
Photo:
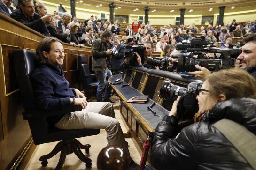
[[[89,102],[82,111],[75,111],[64,115],[55,124],[55,127],[59,129],[105,129],[108,145],[119,146],[130,155],[122,129],[118,120],[115,119],[112,103]]]

